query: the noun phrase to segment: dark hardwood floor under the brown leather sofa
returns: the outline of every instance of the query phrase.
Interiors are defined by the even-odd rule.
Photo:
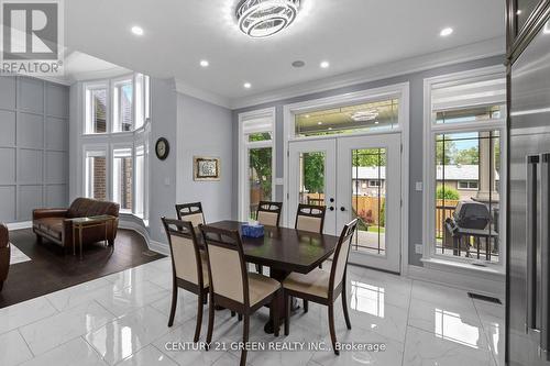
[[[32,260],[10,266],[0,309],[164,257],[148,252],[141,235],[121,229],[114,251],[97,243],[84,248],[82,260],[46,240],[38,245],[31,229],[10,231],[10,242]]]

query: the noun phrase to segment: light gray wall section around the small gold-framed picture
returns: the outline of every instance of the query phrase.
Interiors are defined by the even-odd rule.
[[[237,217],[233,210],[233,136],[231,110],[178,95],[178,181],[179,202],[201,201],[207,221]],[[220,157],[221,180],[195,181],[193,156]]]

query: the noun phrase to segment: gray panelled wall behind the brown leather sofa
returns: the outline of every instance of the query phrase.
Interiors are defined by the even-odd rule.
[[[0,221],[67,206],[68,106],[65,86],[0,77]]]

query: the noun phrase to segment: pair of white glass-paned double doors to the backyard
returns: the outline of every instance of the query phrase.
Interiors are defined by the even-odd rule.
[[[400,164],[400,134],[290,142],[287,225],[298,203],[327,207],[327,234],[358,218],[350,263],[399,273]]]

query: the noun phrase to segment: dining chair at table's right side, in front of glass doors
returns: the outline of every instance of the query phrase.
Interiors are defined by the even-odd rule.
[[[342,297],[342,308],[345,318],[345,325],[351,330],[350,315],[348,314],[348,301],[345,293],[348,256],[350,246],[358,226],[358,219],[348,223],[340,234],[337,247],[334,249],[334,260],[330,271],[316,268],[309,274],[292,273],[283,281],[283,292],[285,297],[285,335],[289,334],[290,323],[290,297],[301,298],[314,301],[329,309],[329,331],[334,354],[339,355],[337,350],[337,334],[334,331],[334,301],[339,296]]]

